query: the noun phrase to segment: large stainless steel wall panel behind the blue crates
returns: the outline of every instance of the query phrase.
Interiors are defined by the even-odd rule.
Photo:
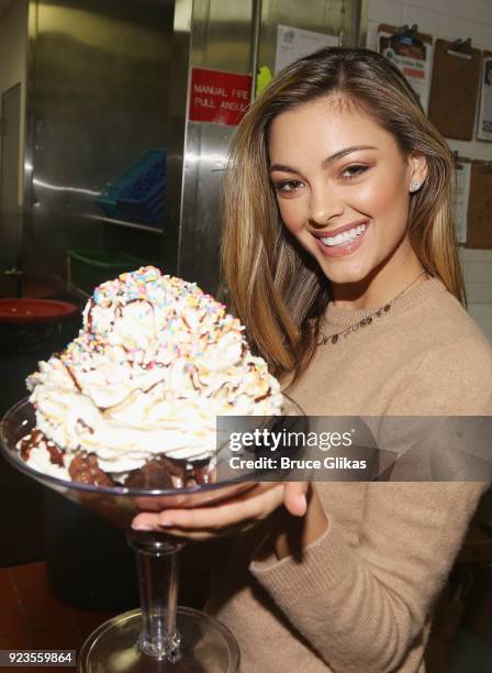
[[[174,4],[31,1],[27,291],[59,288],[67,249],[126,252],[154,263],[164,258],[176,271],[188,41],[183,48],[179,32],[175,38]],[[102,218],[97,196],[156,147],[169,155],[164,234],[138,221]]]

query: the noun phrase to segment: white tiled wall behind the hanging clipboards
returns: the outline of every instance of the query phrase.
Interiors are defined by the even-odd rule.
[[[379,23],[416,23],[434,37],[471,37],[473,46],[492,49],[492,0],[369,0],[369,48],[376,48]],[[462,156],[492,159],[489,142],[449,140],[449,146]],[[461,253],[469,311],[492,340],[492,250],[463,247]]]

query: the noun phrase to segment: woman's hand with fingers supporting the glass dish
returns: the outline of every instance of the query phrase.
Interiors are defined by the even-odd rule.
[[[266,519],[282,504],[295,517],[308,510],[309,483],[256,483],[251,488],[208,507],[164,509],[141,512],[135,530],[158,530],[188,540],[206,540],[234,534],[256,521]]]

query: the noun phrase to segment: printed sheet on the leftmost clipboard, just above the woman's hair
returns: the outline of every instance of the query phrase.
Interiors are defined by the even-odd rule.
[[[378,33],[378,51],[403,73],[405,79],[418,96],[424,112],[427,113],[434,47],[426,42],[391,44],[391,36],[392,34],[387,32]]]

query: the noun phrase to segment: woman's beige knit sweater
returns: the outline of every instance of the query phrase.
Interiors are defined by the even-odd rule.
[[[324,331],[362,316],[329,306]],[[291,395],[320,416],[491,415],[492,351],[431,279],[320,346]],[[433,602],[485,487],[316,483],[329,525],[301,560],[259,560],[260,527],[221,541],[209,609],[236,636],[241,671],[422,673]]]

